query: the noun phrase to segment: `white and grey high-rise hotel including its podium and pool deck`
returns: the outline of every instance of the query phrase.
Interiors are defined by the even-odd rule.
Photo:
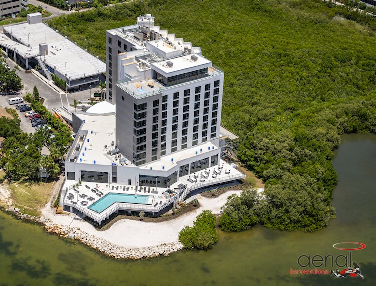
[[[106,43],[107,99],[73,113],[61,210],[99,223],[118,210],[160,214],[195,189],[245,177],[220,159],[224,74],[199,47],[150,14],[107,31]]]

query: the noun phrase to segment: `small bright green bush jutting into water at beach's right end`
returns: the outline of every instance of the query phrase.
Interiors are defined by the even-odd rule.
[[[179,241],[185,248],[209,249],[218,241],[216,217],[211,211],[203,211],[193,223],[179,233]]]

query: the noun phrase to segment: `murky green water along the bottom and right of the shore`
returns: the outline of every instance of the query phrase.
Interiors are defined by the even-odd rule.
[[[257,226],[242,233],[220,233],[209,251],[115,261],[0,213],[0,285],[374,285],[376,135],[342,136],[334,153],[337,218],[321,231],[289,233]],[[290,267],[299,268],[301,254],[346,254],[332,248],[343,241],[367,244],[353,252],[364,280],[289,275]]]

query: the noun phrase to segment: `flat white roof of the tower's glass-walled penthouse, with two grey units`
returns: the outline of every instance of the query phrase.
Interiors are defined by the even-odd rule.
[[[197,60],[194,61],[191,59],[191,56],[197,56]],[[167,65],[167,62],[170,61],[173,63],[173,66],[170,67]],[[157,63],[152,63],[150,66],[151,68],[155,70],[161,70],[164,73],[173,73],[178,72],[181,70],[186,70],[189,68],[193,68],[193,70],[196,70],[198,66],[201,65],[207,65],[206,67],[209,67],[212,65],[212,62],[208,60],[207,58],[199,55],[199,54],[190,54],[186,56],[176,57],[172,59],[167,59],[164,61],[160,61]],[[204,67],[203,67],[204,68]]]

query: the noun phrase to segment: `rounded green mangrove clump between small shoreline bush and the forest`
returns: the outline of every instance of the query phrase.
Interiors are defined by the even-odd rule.
[[[261,213],[265,207],[256,190],[243,190],[238,195],[227,198],[221,208],[220,228],[224,231],[242,231],[260,222]]]

